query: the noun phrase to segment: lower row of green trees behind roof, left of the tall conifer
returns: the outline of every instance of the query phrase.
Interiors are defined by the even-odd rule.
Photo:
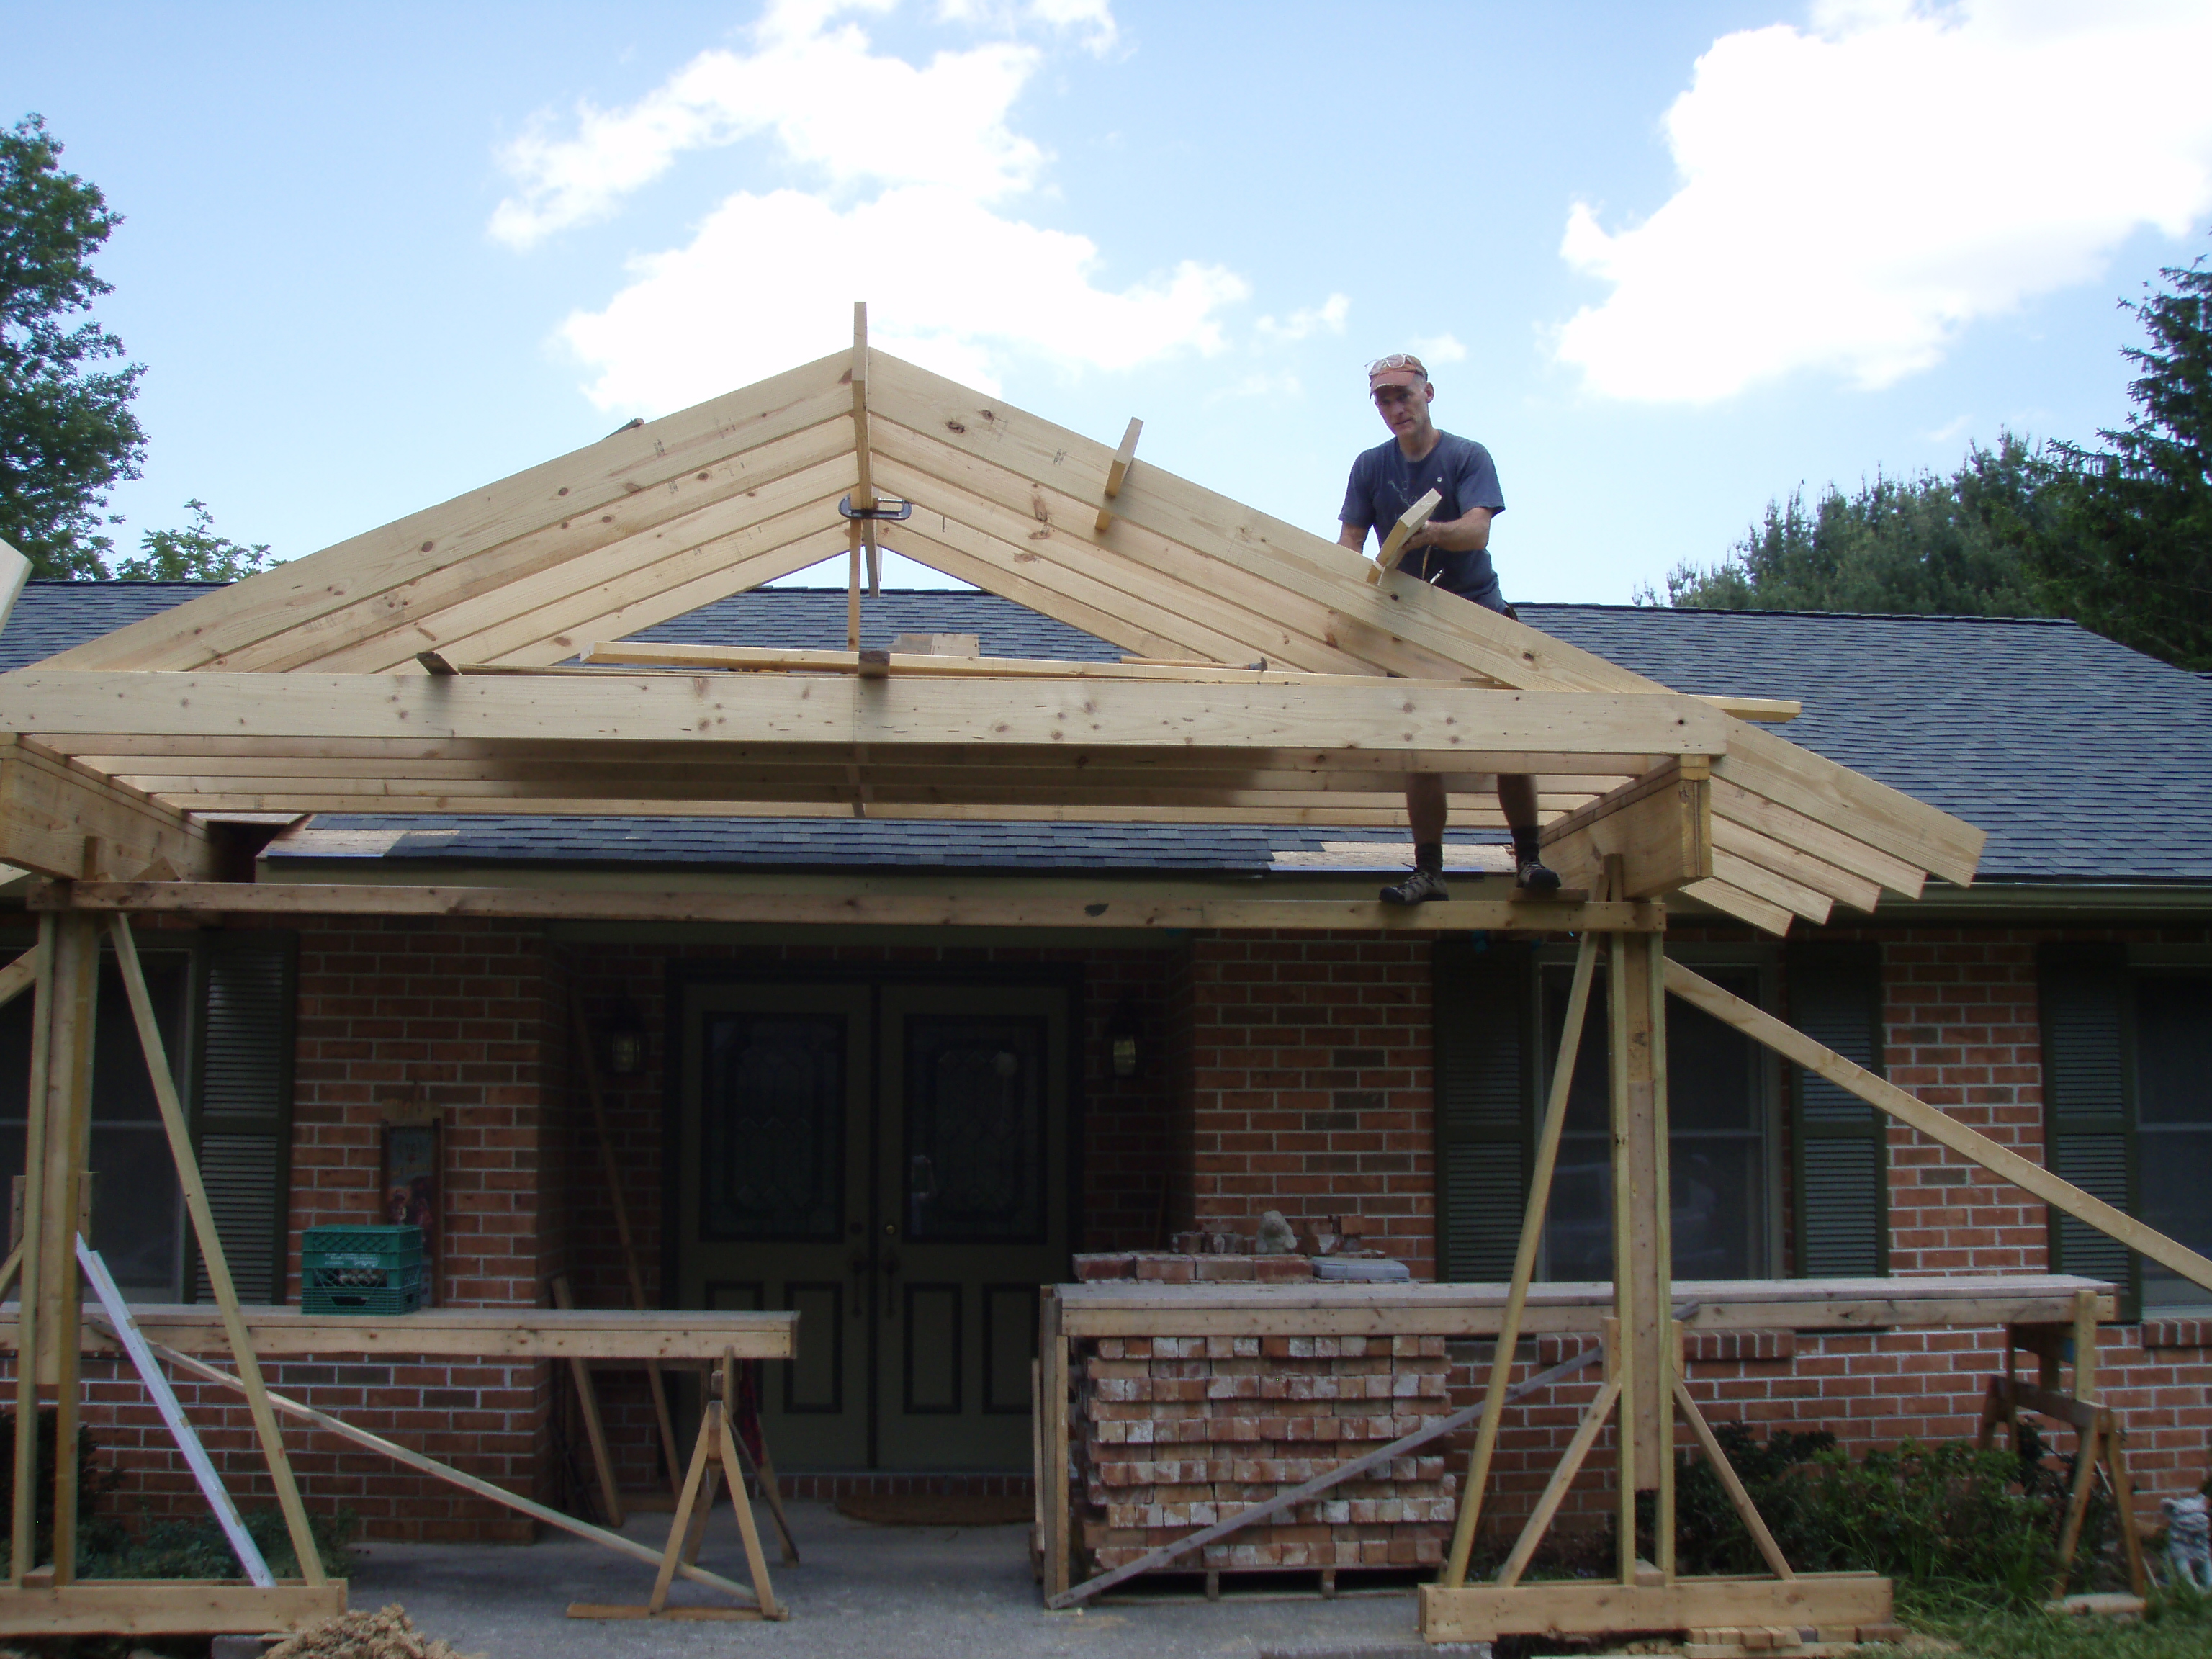
[[[1834,484],[1805,507],[1798,489],[1767,502],[1765,524],[1712,568],[1679,564],[1666,604],[1694,611],[1871,611],[1911,615],[2051,615],[2017,535],[2042,526],[2046,462],[2004,434],[1955,473],[1876,476],[1845,495]],[[1644,588],[1639,604],[1659,604]]]

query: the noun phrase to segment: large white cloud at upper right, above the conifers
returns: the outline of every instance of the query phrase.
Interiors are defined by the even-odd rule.
[[[2208,62],[2201,0],[1827,4],[1725,35],[1666,117],[1674,197],[1613,232],[1573,206],[1559,252],[1613,292],[1557,356],[1650,403],[1927,369],[2212,208]]]

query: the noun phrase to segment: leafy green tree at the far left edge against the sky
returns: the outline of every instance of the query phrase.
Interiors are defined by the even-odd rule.
[[[33,575],[82,580],[106,575],[100,509],[146,456],[144,365],[97,367],[122,341],[73,321],[111,292],[91,259],[122,219],[60,157],[40,115],[0,133],[0,540]]]

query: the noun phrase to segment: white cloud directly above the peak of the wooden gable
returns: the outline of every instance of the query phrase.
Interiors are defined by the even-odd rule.
[[[1046,159],[1006,126],[1040,49],[1000,40],[914,69],[841,22],[849,9],[785,0],[754,29],[754,51],[703,53],[635,106],[588,111],[573,137],[509,157],[524,192],[493,230],[515,246],[608,212],[681,148],[743,133],[772,131],[827,186],[737,190],[686,246],[633,259],[606,305],[573,312],[557,336],[593,369],[593,403],[672,409],[823,356],[852,338],[854,299],[869,301],[885,349],[982,389],[995,389],[1006,352],[1128,369],[1223,349],[1221,312],[1250,296],[1237,272],[1186,259],[1104,288],[1088,237],[1006,212]],[[940,0],[938,11],[975,27],[1042,20],[1088,31],[1084,44],[1113,29],[1106,0]],[[883,88],[863,119],[856,84]],[[1340,327],[1343,305],[1334,296],[1316,316],[1327,323],[1334,307]]]

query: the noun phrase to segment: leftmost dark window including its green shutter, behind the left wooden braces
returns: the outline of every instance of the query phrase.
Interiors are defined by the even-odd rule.
[[[29,949],[27,938],[0,953]],[[208,1208],[243,1301],[281,1294],[292,1135],[292,940],[208,933],[139,947],[161,1046],[192,1124]],[[24,1164],[33,995],[0,1009],[0,1179]],[[113,958],[93,1033],[93,1248],[131,1301],[206,1301],[137,1022]]]

